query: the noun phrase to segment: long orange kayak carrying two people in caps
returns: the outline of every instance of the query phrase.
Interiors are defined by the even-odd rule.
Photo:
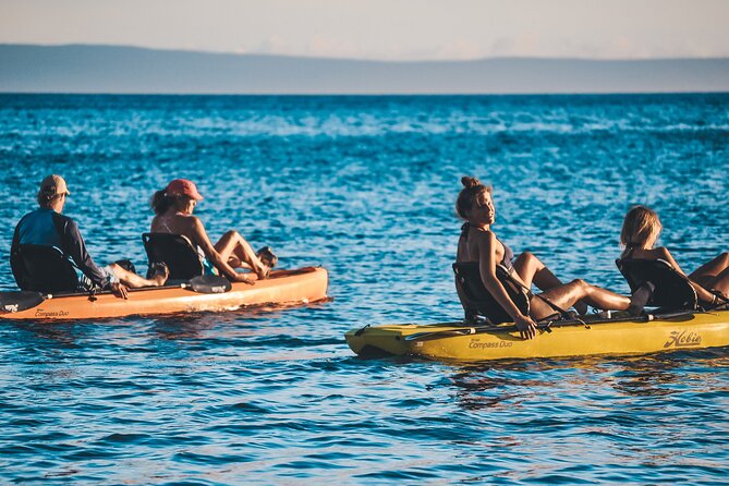
[[[180,287],[139,289],[129,300],[110,293],[94,296],[65,294],[47,297],[38,305],[0,314],[0,319],[99,319],[130,315],[231,311],[246,305],[305,304],[327,297],[329,277],[321,267],[272,271],[253,284],[235,282],[221,293],[198,293]]]

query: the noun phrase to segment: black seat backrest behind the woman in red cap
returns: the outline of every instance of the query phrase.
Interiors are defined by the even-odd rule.
[[[149,260],[147,278],[151,278],[153,265],[157,263],[167,264],[170,269],[169,280],[190,280],[204,274],[199,255],[186,236],[172,233],[144,233],[142,241]]]

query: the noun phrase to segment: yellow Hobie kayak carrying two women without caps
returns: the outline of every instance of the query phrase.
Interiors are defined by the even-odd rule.
[[[729,311],[556,321],[539,325],[532,340],[521,339],[513,324],[465,327],[462,323],[364,327],[347,332],[345,338],[361,356],[485,361],[645,354],[729,345]]]

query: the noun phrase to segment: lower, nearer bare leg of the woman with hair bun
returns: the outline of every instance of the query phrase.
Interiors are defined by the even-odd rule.
[[[573,306],[581,300],[584,300],[593,307],[611,311],[624,311],[630,305],[630,299],[627,296],[619,295],[599,287],[591,285],[582,279],[572,280],[564,285],[547,290],[542,295],[562,308]],[[555,309],[538,296],[533,297],[531,304],[532,317],[537,320],[555,313]]]

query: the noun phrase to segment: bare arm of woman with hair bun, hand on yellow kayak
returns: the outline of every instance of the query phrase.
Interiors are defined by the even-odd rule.
[[[477,238],[478,269],[484,287],[486,287],[486,290],[494,296],[496,302],[514,319],[514,324],[522,333],[522,337],[533,338],[536,333],[536,324],[530,316],[521,313],[496,277],[496,236],[489,231],[478,233]]]

